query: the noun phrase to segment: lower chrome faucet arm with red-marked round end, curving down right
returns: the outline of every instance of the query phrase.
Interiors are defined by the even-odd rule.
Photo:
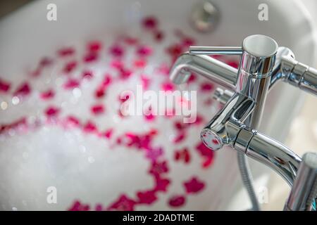
[[[292,186],[302,160],[282,143],[244,124],[254,108],[253,99],[235,94],[201,131],[201,141],[211,150],[231,146],[267,165]]]

